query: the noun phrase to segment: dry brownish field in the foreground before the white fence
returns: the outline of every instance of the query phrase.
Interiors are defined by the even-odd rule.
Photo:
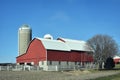
[[[89,80],[118,74],[120,71],[0,71],[0,80]]]

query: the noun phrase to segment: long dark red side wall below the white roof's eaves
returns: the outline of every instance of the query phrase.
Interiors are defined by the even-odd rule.
[[[92,55],[83,51],[55,51],[47,50],[48,61],[93,62]]]

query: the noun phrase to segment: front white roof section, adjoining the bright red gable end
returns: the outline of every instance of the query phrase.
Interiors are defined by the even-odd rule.
[[[62,41],[44,39],[44,38],[38,38],[38,37],[37,37],[37,39],[42,41],[42,43],[43,43],[43,45],[46,49],[60,50],[60,51],[70,51],[70,48]]]

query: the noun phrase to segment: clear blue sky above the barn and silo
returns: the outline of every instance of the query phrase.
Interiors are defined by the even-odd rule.
[[[107,34],[120,45],[120,0],[0,0],[0,63],[16,62],[23,24],[33,38],[49,33],[86,41]]]

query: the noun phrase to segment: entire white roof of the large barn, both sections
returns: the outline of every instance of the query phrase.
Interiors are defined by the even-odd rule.
[[[61,40],[51,40],[51,39],[44,39],[38,38],[41,40],[44,47],[50,50],[60,50],[60,51],[93,51],[92,48],[85,42],[79,40],[72,40],[72,39],[65,39],[59,38]]]

